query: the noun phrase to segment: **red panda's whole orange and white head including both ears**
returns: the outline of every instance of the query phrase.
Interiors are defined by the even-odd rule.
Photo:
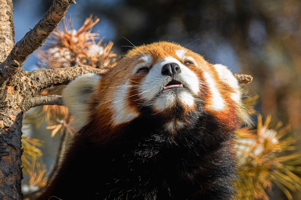
[[[77,78],[63,97],[77,130],[91,121],[116,128],[144,110],[163,118],[162,128],[169,132],[186,127],[191,113],[212,115],[230,128],[240,119],[248,123],[230,70],[169,42],[135,47],[108,73]]]

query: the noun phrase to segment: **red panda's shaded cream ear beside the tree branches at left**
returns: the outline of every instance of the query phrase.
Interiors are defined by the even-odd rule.
[[[88,116],[90,115],[88,110],[89,100],[92,99],[95,89],[98,88],[100,79],[101,76],[97,74],[84,74],[69,83],[62,92],[64,105],[76,117],[72,123],[72,127],[76,131],[88,122]]]

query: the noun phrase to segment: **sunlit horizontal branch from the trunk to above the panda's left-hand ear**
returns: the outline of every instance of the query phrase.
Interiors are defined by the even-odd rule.
[[[31,83],[37,91],[49,88],[54,85],[65,85],[73,81],[76,77],[85,73],[105,73],[108,70],[97,69],[90,66],[82,67],[66,67],[51,70],[35,70],[27,72],[27,76],[31,79]]]

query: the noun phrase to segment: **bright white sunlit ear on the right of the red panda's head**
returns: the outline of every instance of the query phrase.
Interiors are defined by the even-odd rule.
[[[221,81],[230,85],[230,87],[233,88],[233,90],[235,91],[232,93],[231,99],[234,102],[239,103],[240,102],[240,89],[238,86],[237,79],[233,76],[231,71],[225,65],[215,64],[213,66],[215,67]]]

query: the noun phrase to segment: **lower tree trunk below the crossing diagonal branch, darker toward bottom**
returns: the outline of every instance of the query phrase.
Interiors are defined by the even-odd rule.
[[[0,114],[0,193],[3,199],[21,199],[21,135],[23,111],[20,84],[6,85],[6,106]]]

